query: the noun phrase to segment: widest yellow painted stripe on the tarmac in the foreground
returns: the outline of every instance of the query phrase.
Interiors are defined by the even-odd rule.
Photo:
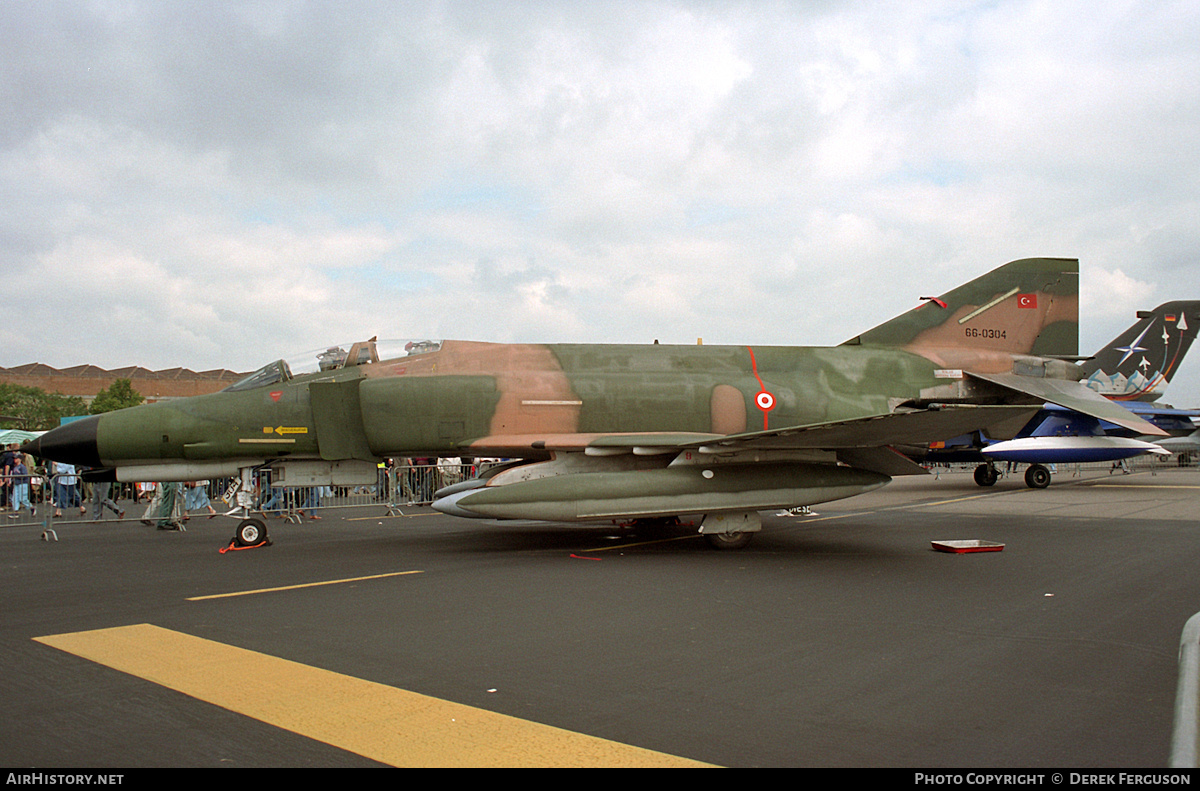
[[[706,766],[152,624],[35,640],[390,766]]]

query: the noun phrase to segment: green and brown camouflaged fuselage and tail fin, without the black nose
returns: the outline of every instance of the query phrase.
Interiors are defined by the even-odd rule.
[[[1010,373],[1028,358],[1078,355],[1078,283],[1074,259],[1013,262],[836,347],[445,341],[400,359],[110,413],[98,420],[96,445],[106,466],[542,457],[614,436],[670,444],[930,400],[979,401],[956,388],[962,371]]]

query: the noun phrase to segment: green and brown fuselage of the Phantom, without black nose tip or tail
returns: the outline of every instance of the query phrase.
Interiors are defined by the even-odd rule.
[[[72,461],[377,460],[550,453],[588,436],[725,436],[886,414],[946,378],[869,347],[497,344],[438,350],[88,419]],[[62,449],[59,459],[66,460]]]

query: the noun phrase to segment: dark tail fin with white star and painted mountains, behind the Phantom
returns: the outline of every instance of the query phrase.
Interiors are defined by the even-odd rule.
[[[1139,311],[1138,323],[1084,362],[1087,386],[1114,401],[1156,401],[1200,329],[1200,301]]]

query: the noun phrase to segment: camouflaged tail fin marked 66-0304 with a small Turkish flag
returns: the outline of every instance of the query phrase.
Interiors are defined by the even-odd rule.
[[[991,270],[846,344],[1078,356],[1079,260],[1022,258]]]

